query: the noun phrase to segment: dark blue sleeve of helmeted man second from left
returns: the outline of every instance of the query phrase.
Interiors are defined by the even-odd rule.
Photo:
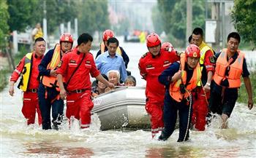
[[[50,76],[50,69],[47,69],[48,63],[50,63],[53,58],[53,50],[49,50],[44,58],[42,58],[41,63],[38,66],[39,76]]]

